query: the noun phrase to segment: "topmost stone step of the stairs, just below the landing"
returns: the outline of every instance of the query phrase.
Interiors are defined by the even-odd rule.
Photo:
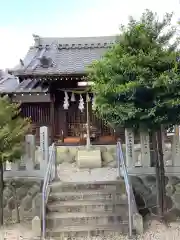
[[[125,184],[123,179],[116,181],[94,181],[94,182],[53,182],[51,185],[51,192],[72,192],[84,190],[121,190],[125,192]]]

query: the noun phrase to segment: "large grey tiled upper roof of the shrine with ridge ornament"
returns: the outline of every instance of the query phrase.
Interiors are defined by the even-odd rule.
[[[25,59],[12,70],[15,75],[80,74],[100,59],[115,42],[115,36],[41,38],[34,36]],[[46,63],[46,64],[45,64]]]

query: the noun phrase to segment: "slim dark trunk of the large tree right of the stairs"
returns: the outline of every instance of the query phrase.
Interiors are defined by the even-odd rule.
[[[156,133],[152,133],[152,148],[154,151],[153,157],[155,158],[155,170],[156,170],[156,187],[157,187],[157,210],[158,216],[162,216],[162,193],[161,193],[161,178],[160,178],[160,164],[158,158],[157,138]]]

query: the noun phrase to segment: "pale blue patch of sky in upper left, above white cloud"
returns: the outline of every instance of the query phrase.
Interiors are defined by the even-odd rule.
[[[85,4],[84,4],[85,2]],[[91,5],[83,0],[2,0],[0,25],[32,26],[35,24],[49,24],[52,21],[66,19]]]

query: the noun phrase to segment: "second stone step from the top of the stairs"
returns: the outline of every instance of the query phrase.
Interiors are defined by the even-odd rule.
[[[102,190],[84,190],[83,192],[51,192],[49,195],[48,203],[54,201],[73,201],[73,200],[113,200],[125,201],[127,195],[122,192],[109,191],[108,189]]]

